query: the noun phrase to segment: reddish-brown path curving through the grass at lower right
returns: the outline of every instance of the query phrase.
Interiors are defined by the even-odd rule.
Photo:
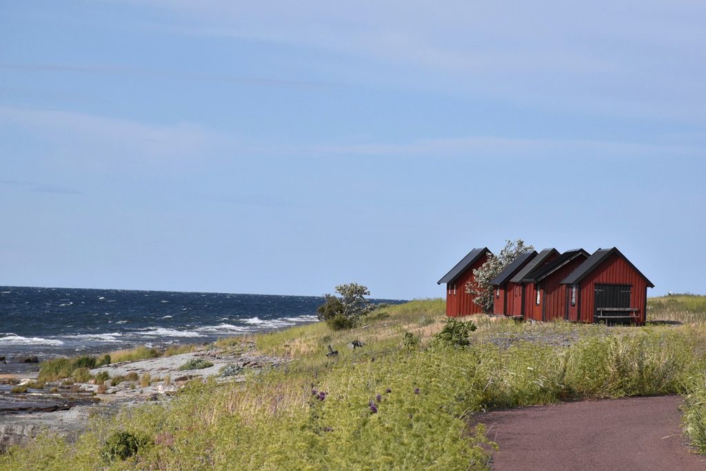
[[[706,470],[681,434],[677,395],[597,400],[475,417],[500,446],[494,470]]]

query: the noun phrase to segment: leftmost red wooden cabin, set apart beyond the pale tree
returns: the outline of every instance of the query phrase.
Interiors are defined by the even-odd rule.
[[[491,251],[487,247],[473,249],[462,261],[446,273],[437,285],[446,284],[446,315],[450,317],[469,316],[483,312],[481,306],[473,302],[473,294],[466,292],[466,284],[474,282],[473,270],[486,263]]]

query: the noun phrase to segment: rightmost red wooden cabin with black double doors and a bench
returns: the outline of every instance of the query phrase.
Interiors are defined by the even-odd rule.
[[[615,247],[598,249],[561,283],[566,318],[579,322],[645,323],[647,288],[654,288]]]

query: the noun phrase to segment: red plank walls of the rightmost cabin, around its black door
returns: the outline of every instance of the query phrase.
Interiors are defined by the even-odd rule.
[[[640,273],[618,254],[611,255],[606,261],[594,268],[580,281],[579,296],[575,308],[580,308],[580,321],[594,322],[594,288],[596,284],[631,285],[630,307],[638,309],[638,323],[645,322],[645,302],[647,300],[647,281]],[[569,309],[570,315],[572,309]],[[575,314],[574,314],[575,316]]]

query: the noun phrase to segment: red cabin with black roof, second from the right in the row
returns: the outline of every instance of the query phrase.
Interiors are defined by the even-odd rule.
[[[528,288],[532,287],[532,298],[525,319],[551,321],[565,318],[566,289],[561,282],[588,257],[584,249],[569,250],[528,273],[522,281]]]

